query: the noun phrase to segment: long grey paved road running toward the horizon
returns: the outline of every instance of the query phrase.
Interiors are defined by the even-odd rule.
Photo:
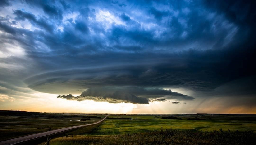
[[[106,115],[106,117],[107,116],[108,115]],[[33,135],[28,135],[28,136],[23,136],[23,137],[18,137],[18,138],[14,138],[14,139],[9,139],[9,140],[5,140],[5,141],[1,141],[0,145],[12,145],[12,144],[17,144],[17,143],[22,143],[24,141],[28,141],[28,140],[32,140],[32,139],[36,139],[36,138],[40,138],[40,137],[44,137],[44,136],[60,133],[60,132],[67,131],[67,130],[70,130],[70,129],[98,124],[98,123],[104,121],[106,119],[106,117],[103,118],[102,120],[100,120],[100,121],[98,121],[96,123],[92,123],[92,124],[78,125],[78,126],[72,126],[72,127],[67,127],[67,128],[61,128],[61,129],[46,131],[46,132],[43,132],[43,133],[38,133],[38,134],[33,134]]]

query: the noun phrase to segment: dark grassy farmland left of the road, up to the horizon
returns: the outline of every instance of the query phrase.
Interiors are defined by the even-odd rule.
[[[88,115],[90,114],[21,111],[8,112],[6,114],[6,112],[0,111],[0,141],[70,126],[90,124],[101,120],[101,118],[90,118],[90,120],[81,121],[82,118]],[[97,115],[97,117],[104,116],[105,115]]]

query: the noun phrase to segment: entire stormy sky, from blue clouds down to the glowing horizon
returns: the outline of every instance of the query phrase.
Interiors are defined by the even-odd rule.
[[[0,110],[256,113],[256,2],[0,1]]]

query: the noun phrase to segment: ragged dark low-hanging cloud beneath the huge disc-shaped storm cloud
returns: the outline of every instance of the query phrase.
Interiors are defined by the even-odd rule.
[[[183,96],[181,98],[180,96]],[[100,88],[88,88],[79,97],[74,97],[71,94],[65,96],[60,95],[58,98],[65,98],[67,100],[94,100],[94,101],[106,101],[110,103],[135,103],[135,104],[148,104],[149,101],[166,101],[166,99],[183,99],[193,100],[193,97],[183,95],[171,90],[164,90],[159,88],[145,88],[145,87],[100,87]]]

